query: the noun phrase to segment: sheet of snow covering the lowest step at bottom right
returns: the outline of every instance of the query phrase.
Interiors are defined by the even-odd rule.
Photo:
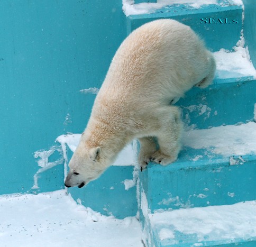
[[[149,215],[161,246],[205,246],[209,242],[256,240],[256,201],[179,209]],[[187,245],[186,245],[187,246]]]

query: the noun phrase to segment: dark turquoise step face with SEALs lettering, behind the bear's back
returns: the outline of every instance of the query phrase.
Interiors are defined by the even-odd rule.
[[[168,12],[160,10],[159,14],[130,15],[127,17],[127,32],[129,34],[147,22],[168,18],[189,25],[204,39],[206,46],[211,51],[218,51],[221,48],[231,50],[240,40],[243,12],[241,6],[219,6],[218,8],[215,6],[202,10],[203,12],[199,12],[200,10],[186,11],[185,8],[185,5],[179,5],[178,7],[173,6]],[[235,21],[233,22],[233,20]],[[211,35],[209,35],[210,33]],[[223,38],[223,34],[225,34],[225,38]]]

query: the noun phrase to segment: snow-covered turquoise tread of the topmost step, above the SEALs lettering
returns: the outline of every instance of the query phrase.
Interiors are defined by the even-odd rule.
[[[170,0],[158,1],[158,3],[140,3],[132,4],[130,0],[123,1],[123,11],[126,16],[131,19],[140,19],[152,17],[167,17],[194,14],[194,13],[207,13],[207,12],[220,12],[226,10],[235,10],[242,8],[243,3],[241,0]]]

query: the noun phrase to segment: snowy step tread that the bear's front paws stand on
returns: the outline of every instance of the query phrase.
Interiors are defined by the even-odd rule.
[[[200,107],[200,105],[191,107]],[[204,111],[207,109],[202,106],[202,112]],[[255,140],[256,123],[254,122],[185,131],[182,137],[184,148],[175,163],[162,167],[151,162],[149,166],[154,167],[154,171],[165,172],[214,163],[242,164],[245,160],[256,160]]]

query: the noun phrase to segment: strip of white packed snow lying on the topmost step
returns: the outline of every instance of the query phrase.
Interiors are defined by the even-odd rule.
[[[136,1],[135,1],[136,2]],[[220,6],[242,5],[242,0],[158,0],[157,3],[139,3],[135,4],[134,0],[123,0],[123,11],[126,16],[150,14],[160,8],[173,4],[184,4],[193,8],[201,8],[203,5],[218,4]]]

